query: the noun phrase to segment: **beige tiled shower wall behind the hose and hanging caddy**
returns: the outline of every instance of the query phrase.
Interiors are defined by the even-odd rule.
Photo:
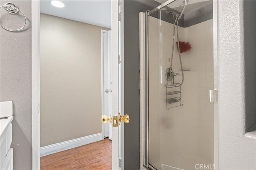
[[[144,152],[144,14],[140,13],[140,101],[141,163]],[[213,89],[213,21],[179,27],[179,41],[192,49],[181,53],[184,83],[181,104],[166,109],[165,70],[170,67],[173,24],[149,17],[149,162],[157,169],[196,169],[196,164],[213,164],[214,109],[209,102]],[[177,35],[177,33],[175,33]],[[175,41],[177,37],[175,36]],[[172,69],[181,73],[177,45]],[[176,76],[180,83],[182,76]],[[176,91],[169,88],[168,92]],[[178,96],[168,96],[168,98]]]

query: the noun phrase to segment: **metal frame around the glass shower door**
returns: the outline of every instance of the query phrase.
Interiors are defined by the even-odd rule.
[[[149,164],[149,16],[150,14],[157,12],[161,8],[171,4],[176,0],[168,0],[153,10],[144,12],[145,15],[145,143],[144,143],[144,162],[143,167],[146,169],[155,169]],[[218,1],[212,0],[213,3],[213,64],[214,64],[214,90],[218,90]],[[218,100],[217,100],[218,101]],[[143,113],[142,113],[143,114]],[[143,145],[143,143],[142,143]],[[214,166],[215,169],[219,168],[219,156],[218,156],[218,102],[214,102]]]

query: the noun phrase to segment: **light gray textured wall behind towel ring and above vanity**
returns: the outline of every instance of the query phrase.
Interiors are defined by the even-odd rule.
[[[14,103],[12,148],[14,169],[32,169],[32,89],[31,89],[31,1],[1,0],[0,5],[12,2],[28,19],[26,30],[9,32],[0,27],[0,100]],[[24,20],[1,9],[1,23],[13,29]]]

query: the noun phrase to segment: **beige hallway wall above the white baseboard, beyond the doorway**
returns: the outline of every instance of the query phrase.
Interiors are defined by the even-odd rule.
[[[41,147],[101,133],[101,29],[40,14]]]

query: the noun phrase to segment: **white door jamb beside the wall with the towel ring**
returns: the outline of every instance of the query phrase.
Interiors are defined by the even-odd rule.
[[[32,169],[40,170],[40,1],[32,0]]]

